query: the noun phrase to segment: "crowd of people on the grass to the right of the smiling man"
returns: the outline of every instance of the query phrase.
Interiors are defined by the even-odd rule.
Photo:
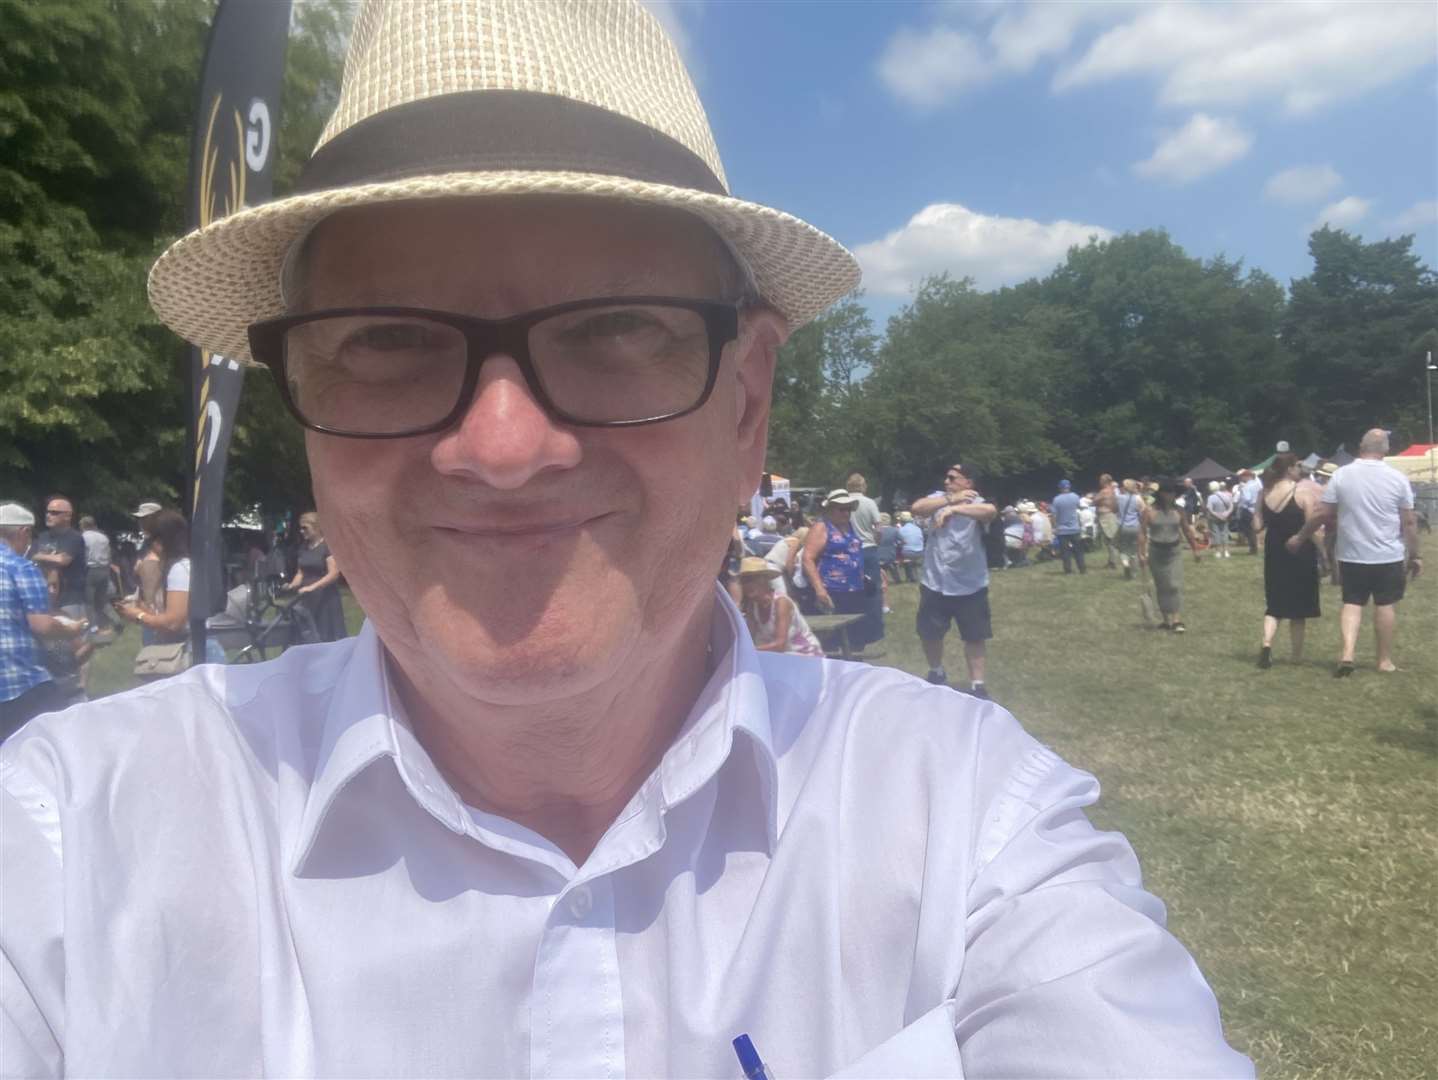
[[[762,518],[741,516],[725,577],[761,649],[820,653],[805,617],[847,614],[857,617],[850,643],[866,649],[866,659],[881,654],[867,647],[884,637],[889,587],[917,581],[916,633],[929,680],[948,683],[943,637],[952,621],[963,641],[968,689],[986,697],[989,571],[1055,559],[1064,574],[1087,574],[1089,557],[1102,555],[1104,569],[1142,578],[1145,611],[1156,628],[1182,634],[1185,551],[1195,561],[1231,559],[1247,544],[1264,558],[1260,667],[1273,666],[1281,623],[1288,624],[1293,660],[1303,659],[1307,624],[1322,615],[1326,577],[1343,588],[1334,674],[1356,667],[1369,603],[1376,667],[1391,672],[1395,605],[1422,559],[1412,486],[1383,463],[1386,452],[1388,434],[1375,429],[1342,469],[1333,462],[1307,467],[1284,449],[1261,475],[1244,469],[1206,489],[1191,477],[1116,480],[1106,473],[1084,495],[1064,479],[1051,500],[1002,508],[979,496],[955,465],[942,489],[893,516],[854,473],[824,498],[812,522],[782,496],[765,505]],[[771,595],[785,598],[782,623],[771,613]]]

